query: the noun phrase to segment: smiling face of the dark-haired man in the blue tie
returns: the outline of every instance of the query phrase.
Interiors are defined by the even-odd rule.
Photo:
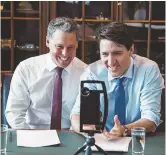
[[[124,45],[106,39],[100,41],[101,60],[112,77],[119,77],[127,71],[131,54],[132,50],[128,51]]]

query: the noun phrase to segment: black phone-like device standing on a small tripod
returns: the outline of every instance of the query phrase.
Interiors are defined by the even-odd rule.
[[[84,84],[88,84],[88,87],[84,87]],[[96,84],[101,84],[103,90],[97,90]],[[108,115],[108,98],[105,83],[103,81],[86,80],[81,81],[80,87],[80,132],[88,133],[88,137],[84,145],[74,154],[77,155],[81,151],[85,150],[85,155],[91,155],[91,146],[95,146],[100,152],[108,155],[102,148],[95,144],[95,133],[102,133],[105,127],[105,123]],[[104,96],[104,114],[100,111],[100,95]],[[84,125],[93,125],[95,129],[85,130]]]

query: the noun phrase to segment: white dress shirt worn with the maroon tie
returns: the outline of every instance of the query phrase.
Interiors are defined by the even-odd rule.
[[[70,113],[87,65],[76,57],[62,72],[62,129],[70,128]],[[15,129],[50,129],[55,68],[50,53],[22,61],[11,81],[5,115]]]

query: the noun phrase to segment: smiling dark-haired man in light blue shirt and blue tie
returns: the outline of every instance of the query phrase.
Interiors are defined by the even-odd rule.
[[[130,134],[132,127],[153,131],[160,124],[164,87],[158,65],[133,54],[134,44],[126,24],[113,22],[101,26],[97,38],[101,60],[90,64],[81,80],[105,82],[108,117],[104,134],[110,139]],[[79,132],[79,98],[71,113],[72,127],[76,132]]]

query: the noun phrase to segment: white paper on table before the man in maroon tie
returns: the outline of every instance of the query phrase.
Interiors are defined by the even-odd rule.
[[[17,146],[42,147],[60,144],[56,130],[17,130]]]

